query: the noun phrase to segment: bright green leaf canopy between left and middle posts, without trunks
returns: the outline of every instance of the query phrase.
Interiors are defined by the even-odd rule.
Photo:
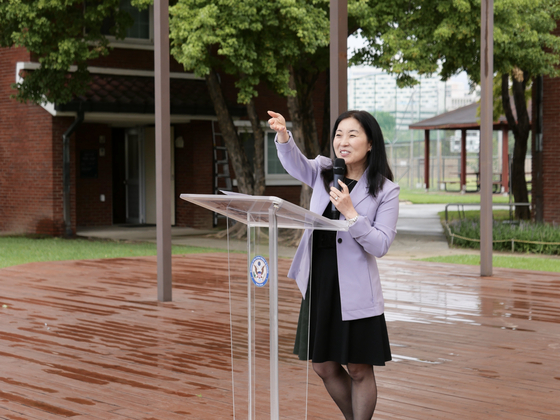
[[[327,10],[326,0],[178,0],[170,9],[172,54],[199,76],[217,68],[236,75],[240,103],[261,82],[286,96],[294,93],[289,65],[328,45]]]

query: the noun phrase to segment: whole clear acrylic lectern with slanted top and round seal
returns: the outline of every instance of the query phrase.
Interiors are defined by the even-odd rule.
[[[271,244],[277,243],[283,228],[340,231],[347,230],[347,224],[277,197],[181,198],[227,216],[228,225],[237,224],[229,226],[232,234],[247,230],[246,254],[228,254],[234,418],[307,418],[309,362],[293,354],[301,293],[287,278],[291,258],[276,261],[278,250]]]

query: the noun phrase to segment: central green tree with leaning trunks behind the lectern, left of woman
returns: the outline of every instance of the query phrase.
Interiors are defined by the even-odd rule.
[[[253,102],[260,83],[288,97],[302,150],[317,143],[297,134],[311,131],[316,137],[316,129],[304,127],[314,127],[314,118],[305,122],[318,75],[313,57],[328,45],[326,10],[326,0],[178,0],[170,9],[171,52],[186,70],[205,77],[241,192],[262,194],[265,187],[264,135]],[[223,99],[219,70],[234,76],[237,100],[247,106],[255,134],[252,171]]]

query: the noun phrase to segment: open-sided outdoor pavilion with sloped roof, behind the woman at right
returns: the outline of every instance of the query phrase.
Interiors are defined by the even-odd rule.
[[[477,116],[478,106],[479,103],[475,102],[408,126],[411,130],[424,130],[424,183],[426,189],[430,188],[430,130],[461,130],[460,190],[466,191],[467,130],[480,130],[480,117]],[[502,177],[499,184],[504,187],[504,192],[509,192],[509,126],[504,116],[501,116],[498,121],[494,121],[493,130],[502,131]]]

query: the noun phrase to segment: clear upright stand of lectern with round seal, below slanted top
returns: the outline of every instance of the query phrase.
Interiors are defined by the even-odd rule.
[[[275,418],[271,415],[274,385],[271,384],[270,296],[273,279],[267,270],[270,269],[269,237],[268,228],[249,226],[247,254],[230,254],[232,393],[236,419]],[[231,258],[233,255],[235,258]],[[296,283],[286,277],[291,259],[279,258],[278,263],[276,386],[279,418],[305,419],[308,364],[293,354],[301,293]]]

